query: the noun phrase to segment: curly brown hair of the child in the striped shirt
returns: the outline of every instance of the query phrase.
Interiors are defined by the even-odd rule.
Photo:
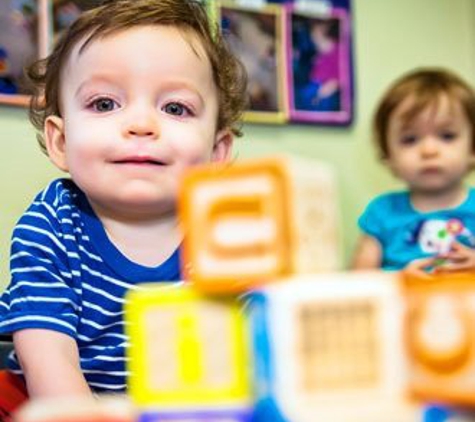
[[[196,35],[203,44],[218,88],[218,130],[230,128],[241,136],[241,116],[247,104],[247,76],[241,62],[229,50],[217,24],[212,24],[197,0],[106,0],[88,10],[63,33],[52,53],[26,69],[32,84],[30,121],[38,131],[43,152],[44,123],[48,116],[61,116],[62,70],[79,42],[81,48],[93,40],[118,31],[146,25],[173,26],[185,36]]]

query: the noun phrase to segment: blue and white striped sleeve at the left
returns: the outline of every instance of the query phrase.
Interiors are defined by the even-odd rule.
[[[11,282],[0,299],[0,332],[42,328],[77,336],[81,292],[73,285],[70,263],[75,257],[64,246],[68,227],[58,210],[57,202],[40,195],[14,229]]]

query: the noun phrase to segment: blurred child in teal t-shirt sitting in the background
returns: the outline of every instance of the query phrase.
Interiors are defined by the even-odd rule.
[[[354,269],[475,268],[475,93],[444,69],[397,80],[374,117],[379,156],[406,190],[378,196],[359,219]]]

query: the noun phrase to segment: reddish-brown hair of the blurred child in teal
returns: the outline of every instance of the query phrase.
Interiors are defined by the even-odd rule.
[[[405,123],[417,117],[427,107],[437,104],[442,96],[460,104],[472,129],[475,151],[475,92],[455,73],[446,69],[418,69],[396,80],[379,102],[373,120],[374,138],[381,159],[389,158],[388,128],[394,111],[403,101],[413,101],[402,119]]]

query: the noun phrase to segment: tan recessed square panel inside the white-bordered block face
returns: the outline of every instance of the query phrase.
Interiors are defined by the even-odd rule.
[[[376,385],[381,376],[375,330],[379,311],[369,299],[302,303],[296,315],[297,353],[306,370],[299,389],[318,394]]]

